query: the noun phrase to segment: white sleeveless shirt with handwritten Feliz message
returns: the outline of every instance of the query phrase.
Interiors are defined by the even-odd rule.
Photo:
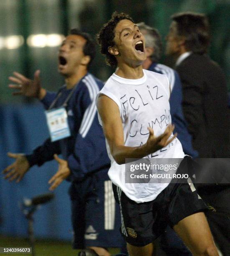
[[[159,136],[171,124],[167,76],[145,69],[143,72],[144,76],[140,79],[125,79],[114,73],[99,92],[110,97],[119,107],[125,146],[136,147],[146,143],[149,137],[147,127]],[[100,116],[99,123],[102,125]],[[179,140],[175,138],[172,142],[147,157],[184,158]],[[116,163],[107,141],[106,147],[111,160],[109,178],[131,200],[138,203],[152,201],[168,186],[168,183],[125,183],[125,164]]]

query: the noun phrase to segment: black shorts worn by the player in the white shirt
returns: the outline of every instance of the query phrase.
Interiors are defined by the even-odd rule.
[[[129,199],[113,184],[114,197],[121,208],[120,232],[127,243],[145,246],[162,235],[167,225],[173,227],[187,216],[207,209],[193,184],[185,182],[170,183],[156,199],[143,203]]]

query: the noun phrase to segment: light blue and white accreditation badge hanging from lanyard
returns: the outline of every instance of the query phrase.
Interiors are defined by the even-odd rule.
[[[45,111],[45,115],[52,142],[71,135],[65,108],[47,110]]]

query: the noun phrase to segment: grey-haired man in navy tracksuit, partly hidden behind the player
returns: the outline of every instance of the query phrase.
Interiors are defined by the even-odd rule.
[[[185,154],[197,157],[198,153],[192,148],[192,136],[187,130],[187,123],[182,111],[182,84],[179,74],[174,69],[158,63],[162,53],[162,41],[157,29],[147,26],[144,22],[137,24],[137,26],[146,41],[147,59],[143,63],[143,68],[165,74],[168,77],[171,87],[169,104],[172,123],[175,125],[174,132],[178,134],[177,138],[179,138]],[[167,227],[167,233],[161,238],[161,247],[170,255],[192,255],[169,226]]]

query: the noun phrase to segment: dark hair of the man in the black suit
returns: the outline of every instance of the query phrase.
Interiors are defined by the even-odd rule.
[[[209,23],[201,13],[176,13],[172,20],[177,24],[178,36],[185,37],[185,48],[198,54],[207,53],[210,43]]]

